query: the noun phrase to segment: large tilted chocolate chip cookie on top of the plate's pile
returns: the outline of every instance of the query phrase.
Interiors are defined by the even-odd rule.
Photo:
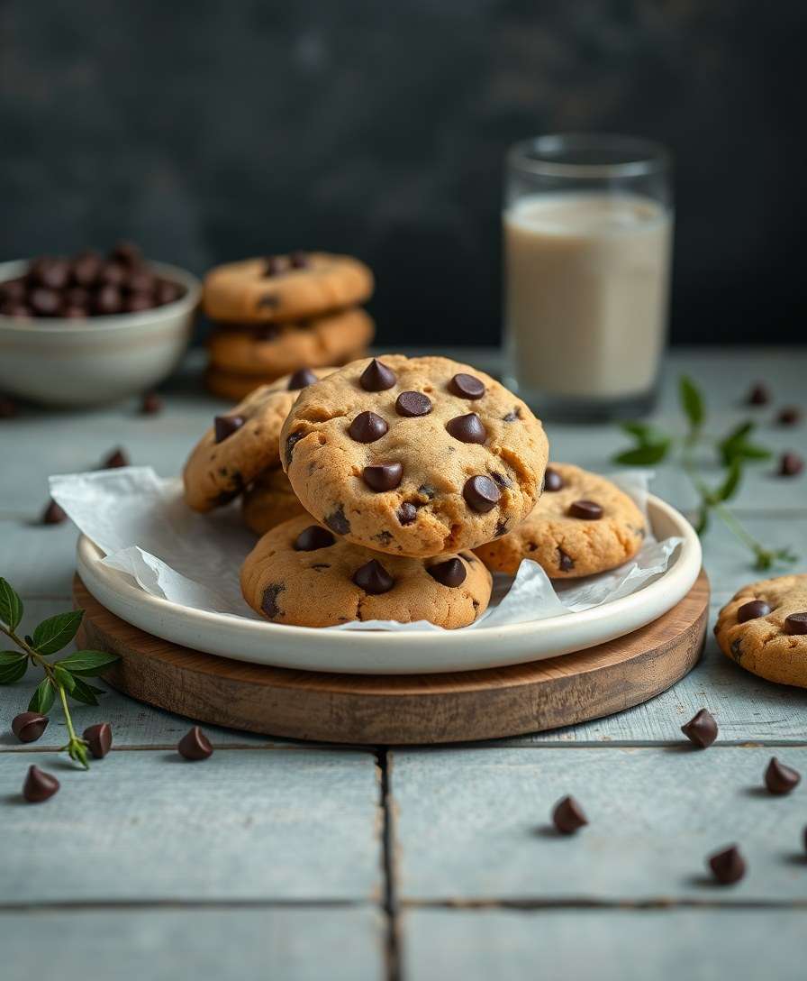
[[[546,435],[521,399],[447,358],[355,361],[281,433],[303,506],[350,542],[439,555],[505,535],[541,494]]]

